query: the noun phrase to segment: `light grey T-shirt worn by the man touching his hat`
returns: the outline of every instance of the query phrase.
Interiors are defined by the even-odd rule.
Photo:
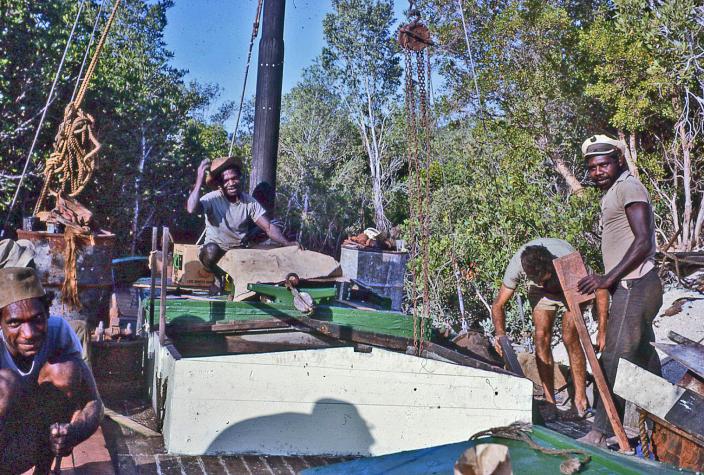
[[[205,244],[215,243],[223,250],[240,247],[247,235],[247,218],[256,222],[265,213],[262,205],[247,193],[240,193],[237,203],[225,198],[221,190],[203,195],[200,204],[205,213]]]

